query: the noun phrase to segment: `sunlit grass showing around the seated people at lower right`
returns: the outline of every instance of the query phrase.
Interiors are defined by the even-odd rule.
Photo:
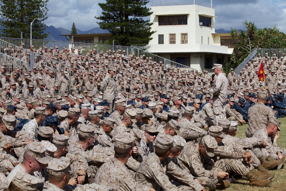
[[[281,131],[278,131],[279,138],[277,140],[277,143],[279,147],[286,148],[286,117],[279,118],[278,121],[281,122],[280,129]],[[237,131],[237,135],[242,138],[246,138],[245,136],[245,130],[247,129],[248,124],[238,126],[239,130]],[[285,168],[277,171],[277,170],[271,170],[271,172],[275,175],[275,177],[271,180],[272,183],[267,187],[253,187],[249,186],[249,180],[247,179],[236,179],[235,182],[233,182],[229,188],[225,189],[227,191],[238,191],[238,190],[247,190],[247,191],[265,191],[265,190],[272,190],[272,191],[280,191],[280,190],[286,190],[286,165]]]

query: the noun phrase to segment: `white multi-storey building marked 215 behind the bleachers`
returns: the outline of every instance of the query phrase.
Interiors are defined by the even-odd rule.
[[[202,72],[213,64],[228,64],[233,51],[229,33],[215,33],[215,9],[210,6],[152,5],[152,40],[146,51]]]

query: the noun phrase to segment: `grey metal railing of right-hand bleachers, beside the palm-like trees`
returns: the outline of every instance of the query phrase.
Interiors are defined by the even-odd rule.
[[[235,68],[235,74],[239,75],[239,72],[242,70],[242,68],[245,68],[245,64],[247,64],[249,61],[251,61],[251,58],[256,58],[257,54],[260,53],[261,57],[263,58],[265,56],[265,53],[268,53],[268,56],[270,59],[273,57],[273,54],[276,54],[276,57],[279,59],[283,55],[283,53],[286,52],[286,49],[255,49],[249,54],[239,66]],[[260,65],[258,66],[258,68]]]

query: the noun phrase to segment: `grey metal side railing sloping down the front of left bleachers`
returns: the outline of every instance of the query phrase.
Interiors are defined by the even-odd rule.
[[[53,76],[55,78],[55,82],[59,81],[59,78],[63,76],[63,71],[69,72],[72,71],[72,66],[67,65],[65,63],[58,62],[50,57],[43,56],[41,54],[37,54],[35,52],[29,51],[25,48],[16,46],[11,44],[10,42],[6,42],[0,39],[1,46],[1,64],[3,61],[6,63],[6,70],[13,71],[15,67],[23,66],[23,73],[28,73],[29,69],[32,71],[33,66],[42,67],[46,70],[53,70]],[[3,47],[3,50],[2,50]],[[25,61],[26,60],[26,61]],[[8,63],[8,64],[7,64]],[[68,84],[67,84],[67,92],[71,93],[71,76],[68,75]],[[43,79],[45,80],[45,79]],[[60,84],[59,84],[60,85]],[[52,87],[51,87],[52,88]],[[59,89],[60,92],[60,89]]]

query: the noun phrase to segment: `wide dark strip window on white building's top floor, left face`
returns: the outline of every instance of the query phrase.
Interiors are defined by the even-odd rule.
[[[158,24],[162,25],[187,25],[188,15],[158,16]]]

